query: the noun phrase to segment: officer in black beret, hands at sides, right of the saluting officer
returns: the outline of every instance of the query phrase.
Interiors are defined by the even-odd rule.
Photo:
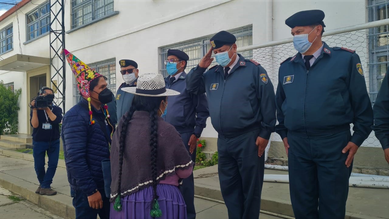
[[[288,154],[296,219],[345,218],[354,154],[373,124],[359,56],[321,41],[323,19],[310,10],[285,21],[298,53],[279,68],[276,132]]]

